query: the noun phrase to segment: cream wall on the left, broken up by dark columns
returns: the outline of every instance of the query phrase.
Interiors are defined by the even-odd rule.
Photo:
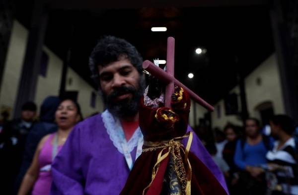
[[[10,112],[10,117],[13,114],[12,111],[21,76],[27,38],[27,29],[18,21],[14,20],[0,91],[0,112],[8,110]],[[58,56],[46,46],[43,47],[43,51],[48,55],[49,61],[46,76],[43,77],[42,75],[39,75],[37,79],[34,101],[38,108],[47,96],[58,96],[63,68],[63,61]],[[88,68],[87,65],[86,68]],[[68,68],[67,76],[68,78],[72,77],[73,84],[71,86],[67,85],[66,90],[78,91],[78,103],[81,106],[83,116],[87,117],[95,112],[101,112],[103,110],[103,104],[99,95],[96,96],[96,107],[92,108],[90,106],[91,91],[95,92],[95,90],[76,74],[72,68]]]

